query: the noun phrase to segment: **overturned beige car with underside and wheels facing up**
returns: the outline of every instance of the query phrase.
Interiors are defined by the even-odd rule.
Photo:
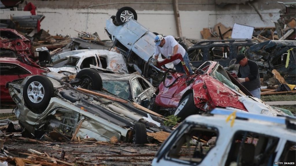
[[[86,85],[92,91],[81,88]],[[115,137],[119,141],[144,144],[147,131],[160,130],[161,121],[156,116],[138,109],[141,107],[135,108],[135,103],[132,105],[100,90],[102,79],[94,69],[83,69],[72,80],[49,72],[46,76],[29,76],[9,83],[20,126],[37,138],[56,132],[68,140],[87,136],[110,141]]]

